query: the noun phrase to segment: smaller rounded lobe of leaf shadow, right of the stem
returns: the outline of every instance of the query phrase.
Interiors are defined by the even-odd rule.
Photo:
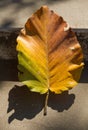
[[[63,92],[62,94],[51,93],[49,96],[48,106],[58,112],[63,112],[72,106],[74,100],[75,95],[69,94],[68,91]]]

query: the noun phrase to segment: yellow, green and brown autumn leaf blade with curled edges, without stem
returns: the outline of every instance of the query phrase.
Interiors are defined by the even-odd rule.
[[[31,91],[60,94],[76,86],[83,68],[82,49],[61,16],[41,7],[28,19],[17,42],[19,80]]]

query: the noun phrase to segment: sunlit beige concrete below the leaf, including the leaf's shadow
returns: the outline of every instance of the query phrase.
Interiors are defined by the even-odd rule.
[[[0,82],[0,130],[88,130],[87,83],[69,94],[50,94],[47,116],[44,98],[18,82]]]

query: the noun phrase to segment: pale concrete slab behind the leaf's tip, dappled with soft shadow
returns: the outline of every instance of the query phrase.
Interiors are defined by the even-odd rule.
[[[72,28],[88,27],[88,0],[0,0],[0,28],[23,27],[42,5],[63,16]]]

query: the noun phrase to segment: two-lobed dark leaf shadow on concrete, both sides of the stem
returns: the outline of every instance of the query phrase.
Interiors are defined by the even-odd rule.
[[[14,110],[14,113],[8,118],[8,123],[14,119],[23,120],[24,118],[34,118],[44,107],[46,94],[30,92],[26,86],[14,86],[8,97],[7,113]],[[64,92],[61,95],[50,93],[48,106],[58,112],[68,110],[74,103],[75,95]]]

